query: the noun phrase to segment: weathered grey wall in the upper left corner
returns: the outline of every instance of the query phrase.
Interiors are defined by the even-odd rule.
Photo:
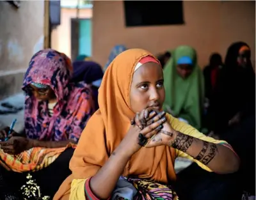
[[[33,54],[44,43],[44,1],[0,1],[0,99],[20,92]]]

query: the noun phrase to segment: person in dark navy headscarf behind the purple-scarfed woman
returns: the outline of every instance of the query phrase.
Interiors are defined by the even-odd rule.
[[[98,63],[93,61],[74,61],[72,82],[84,81],[92,88],[95,110],[99,109],[98,90],[102,81],[103,71]]]

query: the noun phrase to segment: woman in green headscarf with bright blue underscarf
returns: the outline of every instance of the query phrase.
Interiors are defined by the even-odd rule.
[[[195,49],[184,45],[172,51],[172,58],[164,66],[164,88],[164,110],[200,130],[204,77],[197,65]]]

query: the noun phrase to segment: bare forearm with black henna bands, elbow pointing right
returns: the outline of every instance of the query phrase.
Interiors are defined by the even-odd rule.
[[[202,141],[168,127],[170,125],[166,126],[165,123],[163,130],[148,143],[147,147],[157,146],[154,143],[163,142],[166,146],[187,153],[220,174],[234,173],[239,169],[239,158],[226,146]]]

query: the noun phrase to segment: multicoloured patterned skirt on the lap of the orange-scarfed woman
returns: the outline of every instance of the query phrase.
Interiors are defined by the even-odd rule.
[[[148,180],[141,180],[139,178],[124,178],[133,185],[138,191],[133,199],[135,200],[179,200],[179,197],[170,185],[162,185]],[[116,200],[130,200],[124,197],[116,197]]]

